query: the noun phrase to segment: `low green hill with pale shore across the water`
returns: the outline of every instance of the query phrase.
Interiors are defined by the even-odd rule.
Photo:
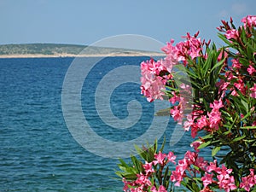
[[[86,55],[108,55],[111,53],[133,54],[149,53],[143,50],[102,48],[76,44],[3,44],[0,45],[0,56],[11,55],[45,55],[45,56],[75,56],[83,49]]]

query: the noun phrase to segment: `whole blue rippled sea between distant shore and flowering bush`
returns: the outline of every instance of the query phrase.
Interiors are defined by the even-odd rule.
[[[165,150],[183,158],[192,139],[183,132],[172,143],[177,128],[172,118],[164,129],[158,124],[157,130],[148,131],[154,119],[163,118],[154,115],[154,102],[141,95],[136,79],[140,63],[148,59],[112,56],[90,65],[91,58],[84,58],[77,75],[69,73],[73,57],[0,59],[0,191],[122,191],[114,172],[119,156],[129,162],[124,143],[146,144],[144,138],[159,143],[165,138]],[[84,78],[69,86],[68,75]],[[68,108],[63,107],[67,98]],[[84,118],[76,119],[79,109]],[[129,122],[122,121],[129,116]]]

